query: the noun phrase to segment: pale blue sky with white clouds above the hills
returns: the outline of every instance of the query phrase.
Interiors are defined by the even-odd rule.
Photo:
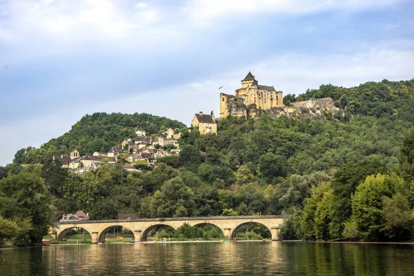
[[[412,0],[0,0],[0,166],[93,112],[189,126],[249,70],[284,95],[412,79],[413,12]]]

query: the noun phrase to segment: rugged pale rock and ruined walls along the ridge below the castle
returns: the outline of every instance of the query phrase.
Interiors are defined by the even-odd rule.
[[[285,115],[288,117],[324,119],[327,116],[335,116],[338,112],[342,112],[340,108],[335,106],[331,98],[309,99],[308,101],[291,103],[290,106],[284,106],[283,108],[270,108],[268,110],[259,110],[255,104],[246,107],[242,102],[236,103],[233,101],[229,108],[230,114],[233,116],[248,116],[250,118],[258,118],[262,114],[268,114],[273,117]]]

